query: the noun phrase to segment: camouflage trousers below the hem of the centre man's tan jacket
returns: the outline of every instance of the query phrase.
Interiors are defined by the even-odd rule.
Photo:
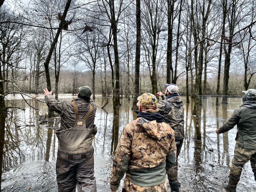
[[[139,185],[133,184],[127,177],[125,177],[122,192],[166,192],[166,189],[166,181],[161,185],[140,187]]]

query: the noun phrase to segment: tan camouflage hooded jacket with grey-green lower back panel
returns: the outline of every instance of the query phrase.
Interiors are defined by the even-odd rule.
[[[176,162],[174,131],[164,122],[148,121],[139,117],[127,124],[118,141],[110,188],[118,189],[126,178],[141,187],[160,185]]]

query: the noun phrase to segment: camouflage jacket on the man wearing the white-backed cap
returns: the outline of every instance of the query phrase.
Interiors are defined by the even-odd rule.
[[[184,138],[184,104],[180,96],[167,96],[158,101],[159,113],[164,116],[164,122],[175,131],[175,140]]]

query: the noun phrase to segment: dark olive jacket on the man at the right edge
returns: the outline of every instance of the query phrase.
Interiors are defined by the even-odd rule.
[[[237,125],[236,143],[248,149],[256,148],[256,101],[245,101],[236,108],[229,119],[220,127],[224,133]]]

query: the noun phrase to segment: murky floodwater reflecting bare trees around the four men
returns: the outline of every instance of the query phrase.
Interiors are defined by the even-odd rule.
[[[43,97],[41,96],[43,99]],[[61,99],[72,100],[71,95]],[[236,128],[217,136],[215,130],[241,105],[242,97],[228,98],[228,104],[215,105],[215,97],[205,97],[201,110],[201,140],[195,140],[192,116],[193,100],[187,104],[185,97],[186,138],[179,156],[178,178],[181,191],[219,192],[228,181],[231,160],[234,155]],[[192,102],[191,102],[192,101]],[[58,140],[55,131],[60,122],[56,116],[49,121],[45,103],[10,97],[8,106],[14,108],[6,120],[5,147],[1,191],[45,191],[57,192],[55,163]],[[104,106],[105,103],[108,104]],[[96,97],[95,124],[98,132],[93,142],[94,167],[97,191],[110,191],[109,177],[115,146],[123,127],[136,118],[131,110],[132,101],[123,99],[119,115],[114,114],[112,99]],[[192,107],[191,107],[192,106]],[[121,185],[123,180],[121,181]],[[167,184],[170,192],[169,184]],[[118,192],[122,191],[119,187]],[[256,184],[250,162],[245,164],[237,191],[255,192]]]

